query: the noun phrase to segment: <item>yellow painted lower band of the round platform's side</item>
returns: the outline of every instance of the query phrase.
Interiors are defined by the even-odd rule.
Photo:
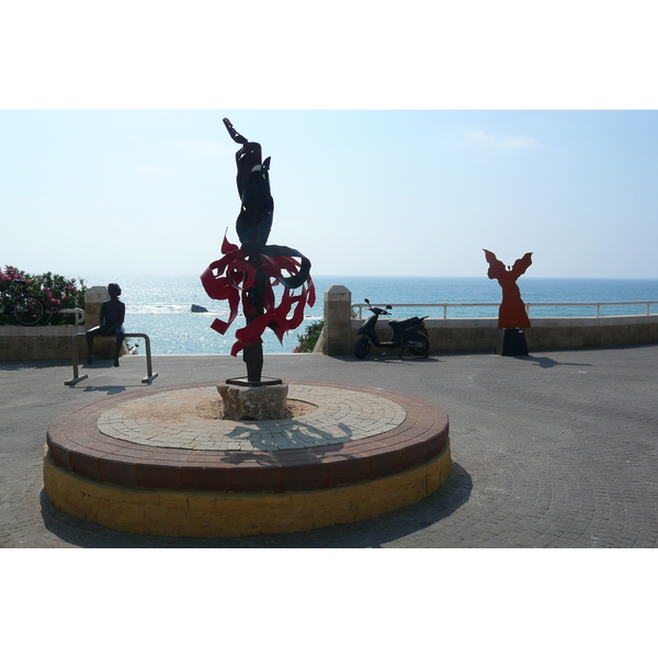
[[[447,479],[450,443],[419,466],[355,485],[288,494],[132,489],[55,465],[44,452],[44,487],[58,509],[106,527],[173,537],[238,537],[306,532],[371,519],[417,502]]]

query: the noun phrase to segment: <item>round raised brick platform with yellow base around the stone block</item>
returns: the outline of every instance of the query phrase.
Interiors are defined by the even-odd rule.
[[[288,387],[292,416],[282,420],[222,419],[213,383],[67,411],[48,428],[46,495],[69,514],[125,532],[243,536],[368,519],[445,483],[443,410],[378,388]]]

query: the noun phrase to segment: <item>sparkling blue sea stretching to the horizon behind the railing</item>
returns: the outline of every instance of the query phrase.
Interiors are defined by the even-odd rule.
[[[126,305],[125,328],[128,332],[147,333],[154,354],[228,354],[235,342],[235,331],[245,325],[240,315],[225,336],[211,329],[217,317],[228,318],[228,304],[211,299],[198,276],[124,276],[118,281],[122,300]],[[265,353],[291,353],[298,344],[297,336],[308,324],[322,319],[324,293],[334,284],[352,293],[352,303],[373,304],[499,304],[500,286],[486,277],[423,277],[423,276],[314,276],[317,299],[306,308],[304,322],[279,342],[269,329],[263,333]],[[87,281],[88,285],[98,285]],[[658,280],[643,279],[533,279],[519,281],[526,303],[597,303],[656,302],[651,314],[658,313]],[[279,287],[279,286],[277,286]],[[276,290],[276,287],[275,287]],[[204,306],[208,313],[192,313],[192,304]],[[646,306],[628,305],[601,307],[600,315],[646,314]],[[396,308],[393,318],[429,315],[442,318],[443,308]],[[530,317],[593,317],[593,307],[534,307]],[[364,318],[368,314],[364,311]],[[449,318],[497,317],[496,307],[449,307]],[[131,340],[131,339],[129,339]],[[144,353],[138,339],[137,349]]]

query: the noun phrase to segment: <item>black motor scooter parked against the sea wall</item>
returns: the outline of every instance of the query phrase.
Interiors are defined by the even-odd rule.
[[[370,304],[370,299],[366,298],[365,303]],[[356,359],[364,359],[370,352],[371,343],[377,348],[400,348],[400,356],[406,349],[415,356],[427,356],[430,350],[430,339],[428,338],[428,330],[423,320],[429,316],[406,318],[405,320],[390,320],[388,326],[393,329],[393,336],[389,341],[381,341],[377,337],[375,325],[379,316],[390,315],[387,310],[388,308],[393,308],[393,306],[390,304],[387,304],[386,308],[370,306],[368,310],[373,315],[363,322],[356,332],[361,338],[354,345],[354,356]]]

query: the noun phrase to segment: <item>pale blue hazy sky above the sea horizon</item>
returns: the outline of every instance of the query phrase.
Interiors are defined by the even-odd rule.
[[[201,273],[237,240],[224,116],[317,274],[658,277],[655,111],[4,111],[3,264]]]

